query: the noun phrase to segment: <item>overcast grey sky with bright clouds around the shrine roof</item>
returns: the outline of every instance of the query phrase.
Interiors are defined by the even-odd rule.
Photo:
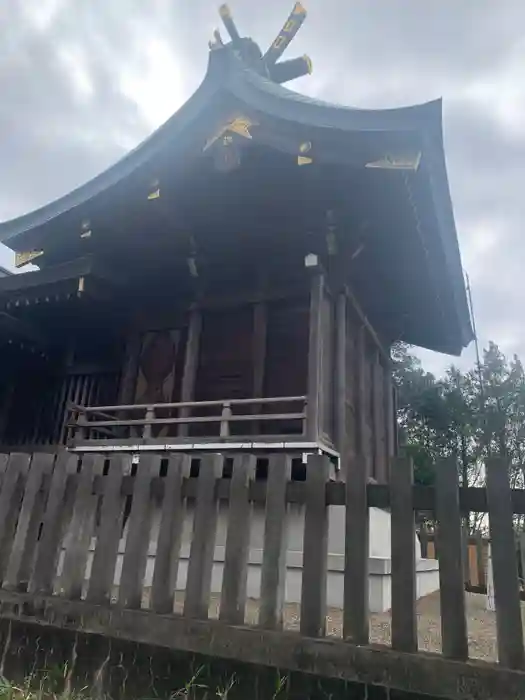
[[[525,4],[305,0],[290,86],[358,107],[444,98],[445,145],[478,335],[525,357]],[[0,220],[65,194],[165,121],[200,82],[214,0],[0,0]],[[231,0],[263,50],[291,0]],[[521,175],[521,177],[520,177]],[[0,246],[0,264],[13,255]],[[424,354],[439,371],[449,361]],[[472,359],[472,349],[464,362]]]

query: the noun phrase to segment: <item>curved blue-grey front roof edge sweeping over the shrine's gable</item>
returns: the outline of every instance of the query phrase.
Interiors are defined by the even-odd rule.
[[[168,141],[191,128],[217,93],[240,100],[268,117],[305,127],[341,132],[419,131],[440,133],[441,100],[397,109],[358,109],[316,100],[259,75],[229,46],[210,52],[206,76],[190,99],[151,136],[121,160],[72,192],[10,221],[0,223],[0,242],[17,248],[15,238],[85,204],[151,162]]]

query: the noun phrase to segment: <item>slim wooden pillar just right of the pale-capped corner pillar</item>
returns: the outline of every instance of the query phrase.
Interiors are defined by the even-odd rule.
[[[335,440],[339,450],[341,473],[347,472],[348,441],[347,441],[347,368],[346,368],[346,292],[342,291],[337,296],[336,306],[336,330],[335,330]]]

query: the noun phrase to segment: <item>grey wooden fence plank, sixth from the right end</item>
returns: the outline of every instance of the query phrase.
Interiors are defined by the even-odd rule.
[[[261,602],[259,608],[259,625],[266,629],[279,629],[283,624],[286,549],[288,544],[286,485],[290,477],[290,457],[283,454],[270,457],[266,483]]]

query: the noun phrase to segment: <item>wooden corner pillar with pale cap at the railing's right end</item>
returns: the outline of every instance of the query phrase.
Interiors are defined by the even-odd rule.
[[[312,274],[310,287],[310,328],[308,337],[308,404],[306,432],[308,440],[317,442],[319,438],[319,414],[321,403],[321,362],[322,362],[322,307],[324,275],[320,269]]]

